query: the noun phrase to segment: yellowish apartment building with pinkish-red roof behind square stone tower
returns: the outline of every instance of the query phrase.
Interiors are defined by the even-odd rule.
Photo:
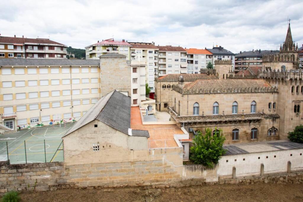
[[[130,60],[131,45],[125,41],[115,41],[113,38],[102,40],[93,45],[86,46],[86,59],[99,59],[99,56],[106,53],[118,53],[125,55],[127,60]]]

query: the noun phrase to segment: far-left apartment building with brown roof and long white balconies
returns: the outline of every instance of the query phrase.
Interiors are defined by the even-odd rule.
[[[67,46],[47,38],[0,36],[0,58],[66,58]]]

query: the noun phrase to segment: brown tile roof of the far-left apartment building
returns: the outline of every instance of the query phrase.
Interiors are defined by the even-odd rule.
[[[41,44],[58,44],[64,45],[49,39],[42,38],[21,38],[21,37],[7,37],[1,36],[0,43],[24,44],[24,43],[41,43]]]

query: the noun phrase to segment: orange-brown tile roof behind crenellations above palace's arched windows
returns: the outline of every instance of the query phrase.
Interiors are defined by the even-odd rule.
[[[185,90],[199,90],[210,88],[268,88],[272,87],[265,79],[227,79],[227,80],[197,80],[189,84],[185,84]]]

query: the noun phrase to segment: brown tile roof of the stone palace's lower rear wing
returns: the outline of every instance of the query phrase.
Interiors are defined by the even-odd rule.
[[[168,74],[159,78],[156,78],[158,82],[173,82],[178,81],[179,76],[183,76],[184,81],[196,81],[199,79],[218,79],[215,75],[207,74]]]

